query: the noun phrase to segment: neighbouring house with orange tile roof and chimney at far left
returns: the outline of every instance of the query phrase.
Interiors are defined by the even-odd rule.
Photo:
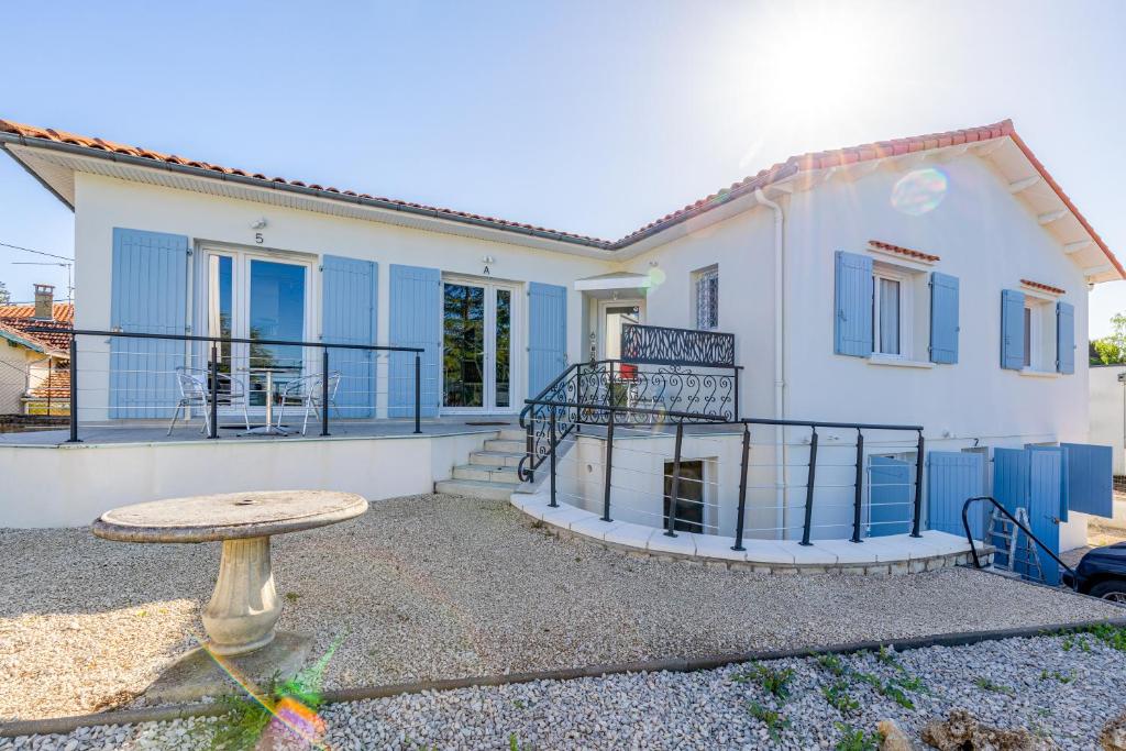
[[[37,289],[38,305],[0,305],[0,414],[68,413],[74,305]]]

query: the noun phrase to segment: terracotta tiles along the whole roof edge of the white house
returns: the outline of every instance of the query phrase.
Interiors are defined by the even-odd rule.
[[[620,240],[610,242],[607,240],[600,240],[598,238],[592,238],[590,235],[579,234],[574,232],[563,232],[560,230],[546,230],[539,226],[522,222],[513,222],[510,220],[503,220],[495,216],[486,216],[482,214],[470,214],[466,212],[455,212],[450,209],[437,208],[434,206],[426,206],[422,204],[408,203],[403,200],[393,200],[388,198],[376,198],[369,194],[361,193],[358,196],[351,190],[338,190],[336,188],[321,188],[316,184],[307,186],[301,180],[286,180],[282,177],[265,178],[261,173],[249,175],[243,170],[236,170],[230,167],[222,167],[218,164],[211,164],[208,162],[199,161],[187,161],[180,157],[172,154],[162,154],[155,151],[148,151],[138,149],[135,146],[128,146],[125,144],[115,143],[113,141],[106,141],[102,138],[90,138],[87,136],[75,135],[73,133],[66,133],[63,131],[55,131],[52,128],[41,128],[34,125],[24,125],[20,123],[14,123],[11,120],[0,119],[0,132],[16,134],[23,138],[41,140],[41,141],[54,141],[59,143],[69,143],[77,146],[82,146],[87,149],[97,149],[102,151],[113,151],[122,154],[129,154],[135,157],[141,157],[143,159],[151,159],[153,161],[163,161],[172,164],[190,166],[205,171],[218,172],[222,175],[239,175],[248,177],[249,179],[262,180],[265,182],[275,182],[279,185],[289,185],[301,188],[311,188],[315,190],[321,190],[323,193],[332,193],[337,195],[345,196],[356,196],[361,200],[379,200],[384,203],[392,203],[399,206],[408,206],[411,208],[417,208],[420,211],[434,212],[438,216],[446,216],[452,218],[467,218],[474,222],[488,222],[494,224],[501,229],[512,229],[512,230],[530,230],[536,232],[545,232],[549,234],[555,234],[562,240],[569,241],[580,241],[584,244],[593,245],[596,248],[601,248],[605,250],[618,250],[631,243],[638,241],[644,236],[655,234],[661,232],[669,226],[677,224],[679,222],[687,221],[692,216],[697,216],[704,212],[711,211],[712,208],[738,198],[739,196],[745,195],[748,193],[753,193],[758,188],[765,188],[772,182],[784,180],[797,172],[811,171],[817,169],[825,169],[830,167],[837,167],[841,164],[854,164],[857,162],[872,161],[876,159],[883,159],[886,157],[896,157],[906,153],[915,153],[930,149],[940,149],[947,145],[959,145],[965,143],[976,143],[980,141],[988,141],[990,138],[998,138],[1001,136],[1009,136],[1012,138],[1013,143],[1020,149],[1029,162],[1036,168],[1036,170],[1044,178],[1045,182],[1055,190],[1056,195],[1060,196],[1064,205],[1071,211],[1083,229],[1090,233],[1091,238],[1099,245],[1102,252],[1107,256],[1107,259],[1117,269],[1118,274],[1126,278],[1126,269],[1123,268],[1118,259],[1115,258],[1114,253],[1102,241],[1102,239],[1094,232],[1091,225],[1087,222],[1083,215],[1079,212],[1075,205],[1071,202],[1066,194],[1060,188],[1056,181],[1048,175],[1044,166],[1036,159],[1033,152],[1028,149],[1025,142],[1017,135],[1013,129],[1012,120],[1002,120],[1000,123],[993,123],[991,125],[984,125],[980,127],[962,128],[956,131],[948,131],[945,133],[929,133],[926,135],[913,136],[908,138],[893,138],[890,141],[877,141],[874,143],[860,144],[857,146],[848,146],[844,149],[834,149],[830,151],[812,152],[806,154],[798,154],[790,157],[784,162],[774,164],[772,167],[759,171],[757,175],[748,177],[739,182],[734,182],[730,188],[720,190],[706,196],[696,203],[688,204],[685,207],[665,214],[661,218],[650,222],[643,227],[631,232]]]

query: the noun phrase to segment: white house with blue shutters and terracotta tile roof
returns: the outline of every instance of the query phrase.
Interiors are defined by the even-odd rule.
[[[1126,278],[1009,120],[794,157],[616,241],[6,120],[0,144],[74,211],[77,329],[419,347],[428,418],[515,415],[569,364],[615,359],[624,322],[727,332],[742,366],[735,417],[922,426],[930,452],[982,455],[985,489],[994,449],[1088,440],[1088,366],[1075,349],[1076,337],[1085,339],[1087,292]],[[158,392],[172,400],[171,382],[138,378],[132,370],[144,368],[126,365],[141,345],[115,355],[108,338],[83,343],[91,365],[79,369],[79,384],[89,420],[167,415],[171,402],[153,411],[152,400]],[[182,349],[166,355],[182,357]],[[286,356],[297,372],[315,368],[307,355]],[[236,365],[234,352],[220,357]],[[374,367],[338,361],[352,384],[340,397],[350,417],[411,413],[412,356]],[[240,377],[253,392],[265,376]],[[852,440],[838,432],[824,432],[821,457],[833,441]],[[739,433],[718,433],[688,450],[713,494],[699,524],[727,534]],[[799,483],[775,467],[805,462],[808,437],[778,430],[759,439],[769,466],[752,475],[769,490],[751,512],[763,520],[760,536],[787,537],[803,498],[793,492]],[[448,479],[474,448],[472,436],[441,449],[427,440],[427,466],[410,482],[374,486],[373,476],[347,467],[354,457],[321,466],[318,479],[376,498],[417,491]],[[564,492],[590,506],[601,491],[582,486],[605,448],[600,436],[582,440],[562,471]],[[660,526],[662,492],[652,477],[664,474],[671,446],[668,436],[647,440],[649,480],[626,488],[647,498],[624,513]],[[913,440],[873,445],[866,456],[906,477],[920,458]],[[251,464],[277,470],[295,456],[282,454],[295,442],[275,444],[262,449],[274,458]],[[395,468],[410,454],[387,446],[386,468],[401,474]],[[16,450],[0,447],[0,463],[26,461]],[[152,464],[151,447],[128,450],[131,462]],[[163,476],[126,472],[125,497],[211,489],[211,459],[199,450],[185,449]],[[315,450],[322,463],[337,462]],[[736,458],[723,459],[732,450]],[[68,492],[81,495],[74,476],[89,465],[38,452],[41,468],[71,477]],[[591,452],[602,458],[586,461]],[[238,482],[295,482],[284,468],[278,475],[248,467]],[[831,506],[819,508],[817,521],[847,537],[849,504]],[[865,518],[874,520],[870,510]],[[6,519],[27,522],[10,510]],[[1081,539],[1076,519],[1063,525],[1061,546]]]

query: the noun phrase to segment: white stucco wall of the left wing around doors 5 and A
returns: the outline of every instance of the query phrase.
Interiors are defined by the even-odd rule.
[[[77,208],[74,212],[75,286],[81,303],[77,309],[75,325],[83,329],[108,329],[110,324],[110,281],[114,227],[169,232],[187,235],[196,247],[199,243],[220,243],[242,249],[304,253],[315,259],[321,254],[345,256],[379,263],[377,342],[387,343],[391,325],[390,266],[403,263],[440,269],[443,272],[483,276],[483,258],[491,257],[491,278],[518,284],[543,281],[568,287],[568,358],[573,363],[583,356],[582,334],[583,301],[574,290],[573,280],[583,276],[605,274],[613,265],[598,259],[566,253],[537,251],[519,245],[463,238],[438,232],[400,227],[378,222],[329,216],[313,212],[288,209],[261,204],[220,198],[186,190],[175,190],[128,182],[114,178],[79,172],[75,175]],[[251,224],[265,217],[262,230]],[[254,233],[261,232],[265,242],[254,243]],[[195,256],[198,258],[198,254]],[[195,278],[195,272],[190,276]],[[314,275],[315,276],[315,275]],[[315,339],[320,333],[320,280],[310,284],[313,295],[314,323],[309,332]],[[525,298],[526,299],[526,298]],[[527,321],[527,305],[521,306]],[[519,405],[526,396],[527,364],[524,339],[517,347],[517,377],[519,392],[513,403]],[[83,413],[96,414],[98,399],[107,392],[108,358],[95,354],[106,349],[99,341],[86,338],[88,350],[84,359]],[[108,350],[107,350],[108,351]],[[382,360],[386,367],[386,360]],[[377,374],[379,383],[386,382],[385,370]]]

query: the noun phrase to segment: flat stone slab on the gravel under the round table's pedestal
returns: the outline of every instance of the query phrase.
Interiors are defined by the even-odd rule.
[[[265,690],[271,678],[287,680],[297,674],[313,646],[310,636],[279,632],[268,646],[233,658],[212,656],[203,647],[191,650],[164,670],[144,695],[150,701],[179,704],[224,694],[244,695],[231,676]]]

